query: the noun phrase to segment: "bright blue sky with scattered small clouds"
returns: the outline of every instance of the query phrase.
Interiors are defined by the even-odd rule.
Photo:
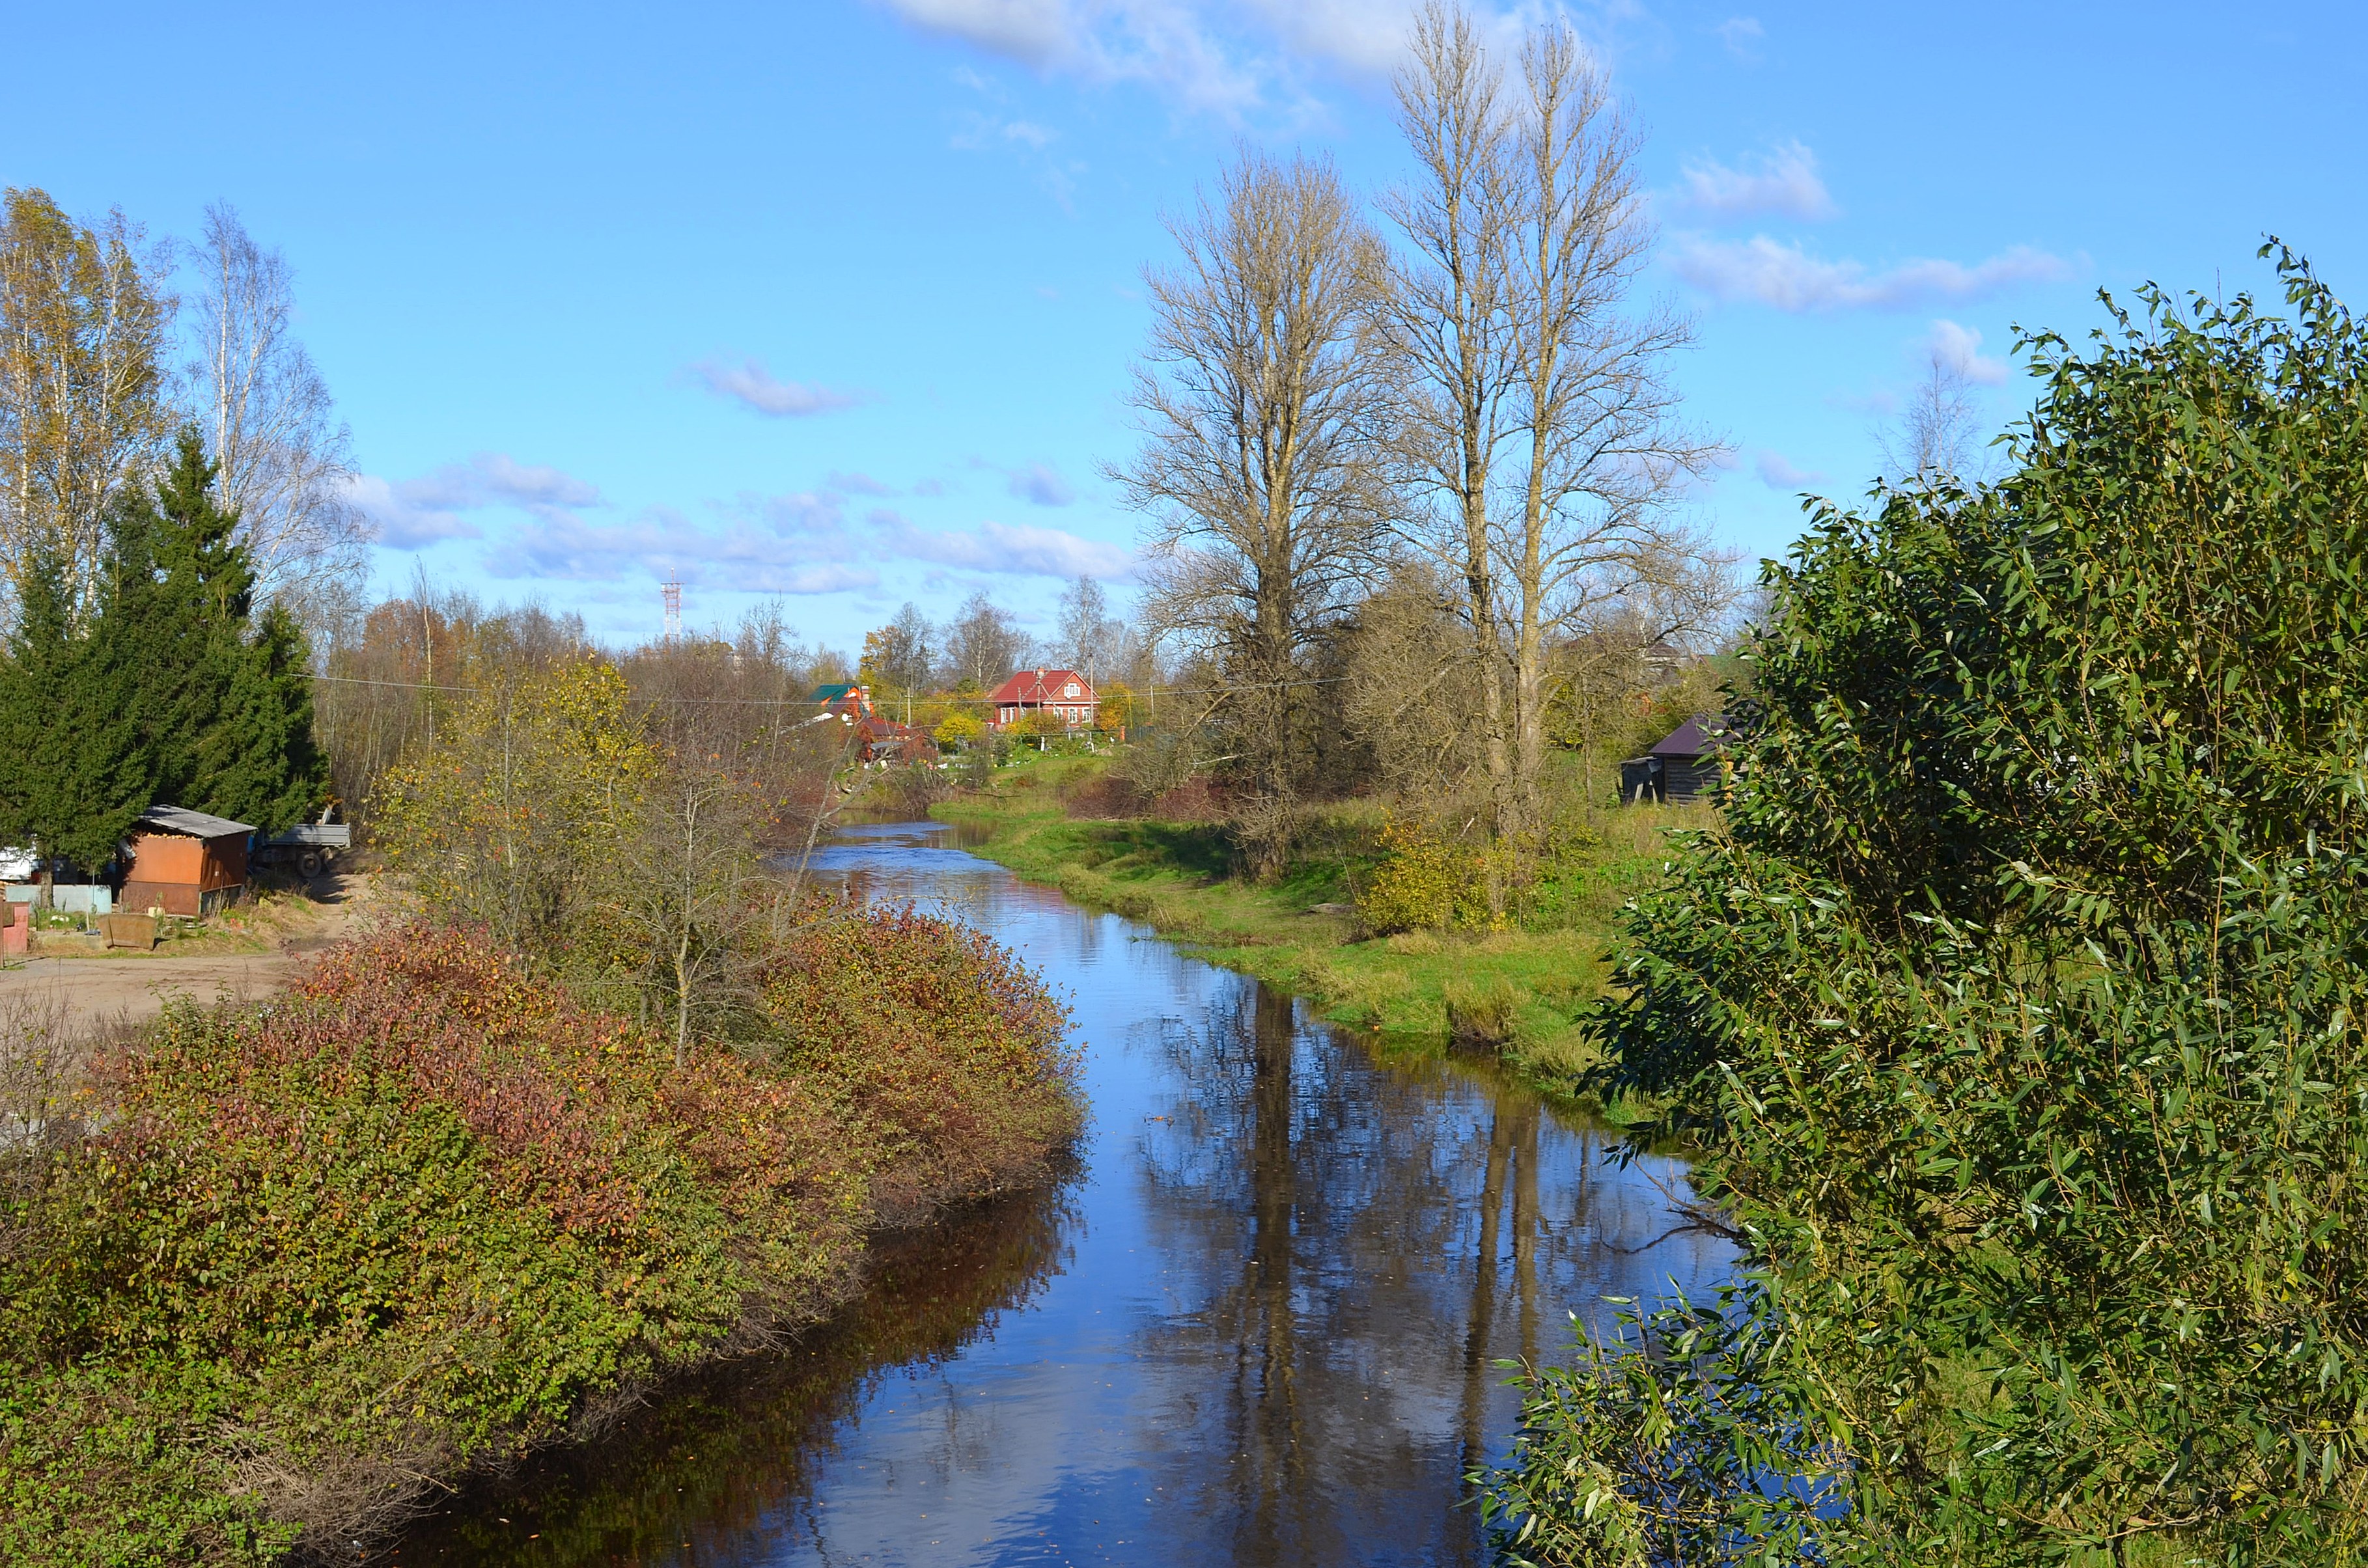
[[[381,587],[609,640],[668,573],[694,625],[777,592],[843,649],[976,587],[1047,628],[1063,576],[1125,580],[1099,469],[1163,208],[1238,140],[1402,173],[1397,0],[393,12],[28,7],[0,182],[156,234],[232,201],[296,268]],[[1679,381],[1736,452],[1695,505],[1750,554],[1864,490],[1935,343],[2006,424],[2013,327],[2098,287],[2261,289],[2276,232],[2359,296],[2368,7],[1565,14],[1646,133]]]

